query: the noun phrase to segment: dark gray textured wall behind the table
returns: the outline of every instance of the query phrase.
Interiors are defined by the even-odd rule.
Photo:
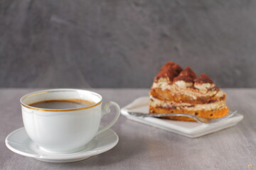
[[[149,87],[169,60],[256,87],[255,4],[1,0],[0,87]]]

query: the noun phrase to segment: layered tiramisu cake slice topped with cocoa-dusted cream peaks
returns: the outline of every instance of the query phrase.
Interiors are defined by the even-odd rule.
[[[190,67],[182,69],[174,62],[167,62],[151,86],[149,113],[186,113],[220,118],[228,114],[225,96],[206,74],[197,77]],[[168,118],[194,121],[187,117]]]

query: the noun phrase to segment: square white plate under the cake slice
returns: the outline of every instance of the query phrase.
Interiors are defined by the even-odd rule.
[[[142,118],[136,117],[134,115],[129,115],[128,111],[134,112],[142,112],[149,113],[149,97],[140,97],[129,103],[129,105],[125,106],[121,109],[122,115],[125,117],[135,120],[140,123],[144,123],[147,125],[152,125],[157,128],[161,128],[164,130],[169,130],[171,132],[178,133],[179,135],[184,135],[187,137],[201,137],[203,135],[207,135],[212,132],[216,132],[218,130],[223,130],[225,128],[229,128],[238,124],[243,118],[243,115],[239,113],[235,113],[230,118],[227,118],[219,123],[215,123],[212,125],[201,125],[196,122],[183,122],[177,120],[166,120],[159,118]]]

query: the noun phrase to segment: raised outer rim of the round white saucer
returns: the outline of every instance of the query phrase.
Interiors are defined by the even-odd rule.
[[[24,127],[18,128],[16,130],[14,130],[13,132],[9,133],[9,135],[7,135],[7,137],[5,139],[6,147],[8,149],[10,149],[12,152],[16,153],[16,154],[20,154],[22,156],[31,157],[31,158],[38,159],[38,160],[44,159],[44,160],[67,160],[68,161],[68,160],[71,160],[71,159],[82,159],[82,158],[87,159],[87,158],[95,156],[97,154],[102,154],[103,152],[107,152],[108,150],[110,150],[113,147],[115,147],[117,145],[117,143],[119,142],[119,137],[118,137],[117,133],[114,132],[114,130],[112,130],[112,129],[107,129],[106,132],[108,130],[110,130],[113,133],[114,137],[116,137],[116,140],[114,140],[114,142],[110,143],[111,144],[110,147],[106,147],[106,148],[103,148],[103,149],[100,149],[100,150],[96,150],[95,152],[90,152],[91,150],[88,150],[88,151],[84,152],[83,154],[78,154],[78,155],[76,155],[76,153],[78,153],[78,152],[69,153],[69,154],[52,154],[52,153],[29,154],[27,152],[22,152],[22,151],[20,151],[18,149],[15,149],[14,147],[11,147],[11,145],[9,145],[9,142],[11,142],[10,140],[8,140],[9,137],[11,135],[13,135],[14,133],[16,133],[17,131],[19,131],[19,130],[25,130],[25,128]],[[102,133],[104,133],[104,132],[102,132]],[[102,133],[100,133],[99,135],[101,135]],[[97,136],[98,135],[96,135],[95,137],[97,137]],[[95,137],[93,139],[95,139]],[[33,142],[33,141],[31,140],[31,142]],[[81,152],[81,151],[79,151],[79,152]],[[90,153],[87,153],[87,152],[90,152]]]

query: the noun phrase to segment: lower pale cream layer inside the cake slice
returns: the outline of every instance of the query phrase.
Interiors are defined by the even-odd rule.
[[[186,109],[187,111],[210,111],[227,107],[225,101],[216,101],[214,103],[208,104],[176,103],[174,101],[161,101],[158,98],[154,98],[153,96],[150,96],[149,105],[154,108],[156,108],[157,106],[161,106],[163,108],[175,107],[176,109]]]

